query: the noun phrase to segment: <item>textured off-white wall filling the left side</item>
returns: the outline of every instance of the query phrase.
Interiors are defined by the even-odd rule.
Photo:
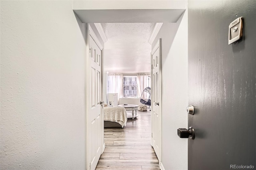
[[[85,57],[72,1],[1,1],[0,169],[85,169]]]

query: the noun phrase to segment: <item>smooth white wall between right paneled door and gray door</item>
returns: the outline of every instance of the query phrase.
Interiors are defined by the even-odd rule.
[[[152,47],[162,38],[162,165],[165,170],[188,169],[188,12],[177,23],[164,23]]]

